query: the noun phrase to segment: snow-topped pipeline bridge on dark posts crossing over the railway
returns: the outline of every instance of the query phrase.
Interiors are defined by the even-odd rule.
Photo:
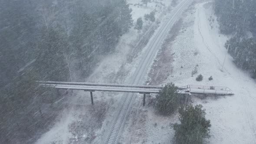
[[[56,89],[65,90],[83,90],[90,92],[91,102],[93,105],[92,92],[132,92],[143,94],[143,106],[145,105],[146,94],[158,94],[163,86],[155,85],[124,85],[124,84],[105,84],[105,83],[89,83],[89,82],[53,82],[53,81],[37,81],[40,86],[54,87]],[[233,95],[230,88],[220,86],[203,86],[203,85],[186,85],[177,88],[178,94],[216,94],[216,95]]]

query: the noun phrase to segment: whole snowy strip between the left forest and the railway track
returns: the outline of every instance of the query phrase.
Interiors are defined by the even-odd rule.
[[[157,10],[156,20],[164,19],[164,11],[171,3],[171,0],[161,0],[159,4],[148,3],[148,6],[134,6],[141,3],[141,0],[127,0],[130,4],[134,23],[138,17]],[[144,22],[145,25],[149,22]],[[127,62],[127,55],[131,52],[131,43],[138,39],[138,31],[133,27],[128,33],[121,36],[116,51],[104,56],[98,62],[94,72],[85,82],[101,83],[127,83],[129,76],[135,71],[138,65],[139,56],[133,62]],[[143,50],[143,49],[142,49]],[[103,143],[112,124],[112,118],[121,102],[123,93],[114,92],[93,92],[94,103],[91,105],[89,92],[73,92],[68,100],[68,107],[57,118],[56,124],[48,132],[43,134],[37,141],[38,144],[80,144],[80,143]],[[101,119],[98,119],[100,117]]]

